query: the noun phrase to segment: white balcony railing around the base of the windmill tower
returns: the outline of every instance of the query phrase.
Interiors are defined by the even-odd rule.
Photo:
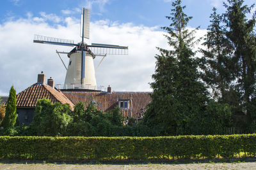
[[[100,90],[100,91],[106,90],[104,86],[83,85],[83,84],[57,84],[55,87],[61,90],[70,90],[70,89]]]

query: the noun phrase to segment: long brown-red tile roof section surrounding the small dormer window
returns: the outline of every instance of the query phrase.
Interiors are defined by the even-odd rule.
[[[147,104],[152,101],[151,92],[84,92],[84,91],[63,91],[72,103],[77,104],[79,101],[87,106],[92,101],[97,103],[97,109],[108,111],[118,106],[118,101],[129,101],[129,108],[121,109],[125,118],[141,118],[147,110]],[[131,104],[132,103],[132,104]]]

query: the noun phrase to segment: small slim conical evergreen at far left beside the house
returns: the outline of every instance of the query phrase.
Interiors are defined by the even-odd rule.
[[[5,117],[2,123],[3,127],[13,127],[15,125],[16,118],[16,90],[12,86],[6,102]]]

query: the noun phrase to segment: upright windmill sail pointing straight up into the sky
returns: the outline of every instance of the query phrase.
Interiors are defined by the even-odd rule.
[[[80,36],[90,39],[90,9],[83,8]]]

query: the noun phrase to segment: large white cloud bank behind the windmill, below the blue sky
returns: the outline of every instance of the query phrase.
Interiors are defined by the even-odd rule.
[[[52,27],[47,24],[47,17],[42,17],[42,20],[29,16],[0,24],[0,42],[3,46],[0,48],[0,95],[7,94],[12,85],[17,92],[26,89],[36,83],[37,74],[41,71],[47,78],[52,76],[56,84],[64,82],[66,71],[55,51],[68,52],[72,47],[33,43],[33,34],[81,41],[78,19],[63,18],[61,20],[65,26]],[[49,15],[44,13],[44,16]],[[148,83],[152,81],[151,75],[154,73],[154,56],[158,53],[156,46],[169,48],[164,32],[157,31],[157,27],[118,24],[109,20],[91,22],[90,31],[92,43],[129,46],[129,55],[108,55],[103,60],[96,71],[97,85],[111,85],[115,91],[151,90]],[[204,34],[205,31],[198,32],[200,36]],[[62,57],[67,64],[68,57]],[[94,60],[95,67],[100,59],[96,57]]]

